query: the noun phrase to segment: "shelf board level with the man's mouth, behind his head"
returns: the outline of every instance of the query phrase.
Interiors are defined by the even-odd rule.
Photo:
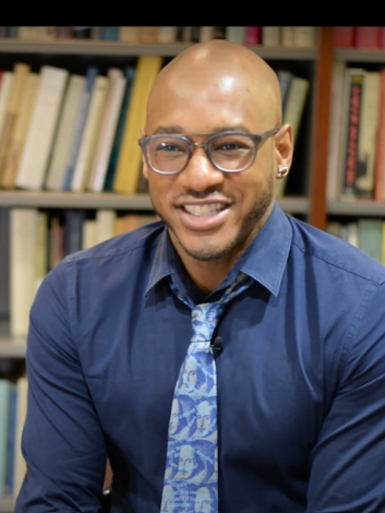
[[[309,200],[306,198],[282,198],[278,200],[285,212],[306,214]],[[71,193],[71,192],[29,192],[0,191],[0,206],[29,206],[40,208],[115,208],[152,211],[153,206],[147,194],[127,196],[103,192]]]

